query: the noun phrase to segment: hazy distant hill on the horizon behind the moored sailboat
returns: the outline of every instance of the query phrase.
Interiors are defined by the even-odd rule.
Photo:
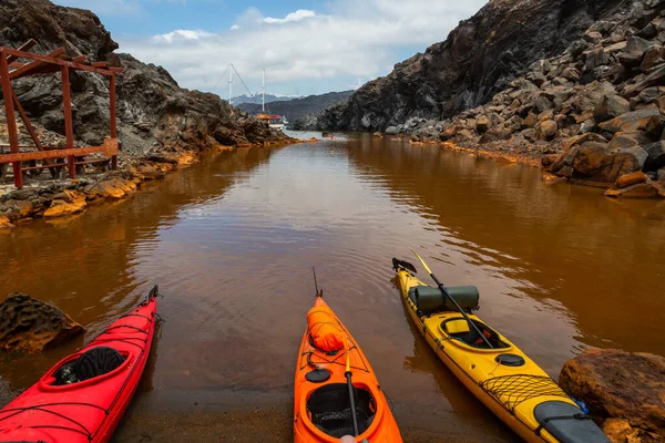
[[[266,112],[284,115],[290,123],[304,125],[314,120],[328,106],[346,101],[352,93],[354,91],[328,92],[327,94],[309,95],[303,99],[270,102],[269,105],[267,104],[266,95]],[[237,107],[247,111],[249,114],[260,112],[260,103],[243,103]]]

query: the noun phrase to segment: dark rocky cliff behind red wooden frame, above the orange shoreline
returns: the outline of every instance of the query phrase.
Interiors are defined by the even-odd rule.
[[[254,119],[233,115],[217,95],[181,89],[161,66],[116,54],[111,34],[92,12],[64,8],[48,0],[4,0],[0,3],[0,45],[18,48],[30,38],[32,52],[64,47],[68,54],[88,55],[121,66],[117,110],[125,152],[174,152],[214,145],[248,145],[284,136]],[[63,134],[62,97],[58,75],[35,75],[13,82],[29,116],[47,132]],[[83,144],[101,144],[109,134],[108,80],[75,72],[71,79],[74,136]]]

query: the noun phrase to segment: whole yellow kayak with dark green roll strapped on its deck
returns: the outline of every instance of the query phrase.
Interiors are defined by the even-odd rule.
[[[412,265],[392,259],[409,317],[439,359],[499,419],[528,442],[606,443],[580,406],[524,352],[471,313],[473,286],[447,287],[474,328],[439,288],[420,281]],[[491,344],[491,348],[488,346]]]

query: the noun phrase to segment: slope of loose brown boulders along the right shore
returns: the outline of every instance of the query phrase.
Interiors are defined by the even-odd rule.
[[[508,2],[491,2],[470,22],[490,20],[485,16],[499,8],[494,3]],[[412,116],[390,132],[409,133],[412,142],[451,142],[542,159],[549,172],[610,188],[605,195],[611,197],[665,197],[665,0],[605,2],[593,17],[585,9],[593,2],[576,3],[586,7],[575,9],[569,21],[591,24],[560,54],[531,63],[482,106],[443,121]],[[535,4],[521,0],[513,10]],[[556,6],[562,7],[551,2]],[[538,22],[551,10],[529,11]],[[447,48],[454,45],[464,23],[451,33]],[[494,25],[501,30],[508,24]],[[630,179],[622,177],[636,172],[646,179],[625,185]]]

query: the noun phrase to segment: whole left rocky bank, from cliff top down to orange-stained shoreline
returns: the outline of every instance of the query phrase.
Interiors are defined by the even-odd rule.
[[[131,195],[142,181],[158,178],[177,165],[192,163],[192,153],[293,142],[284,133],[232,109],[215,94],[180,87],[163,68],[115,53],[117,43],[90,11],[55,6],[49,0],[1,2],[0,45],[18,48],[31,38],[39,42],[32,52],[49,53],[63,47],[68,55],[88,55],[90,61],[105,61],[123,69],[116,84],[121,171],[88,166],[88,175],[81,179],[54,183],[41,181],[41,171],[30,172],[24,177],[25,189],[0,197],[0,227],[10,227],[25,217],[74,214],[92,202]],[[109,136],[108,80],[86,72],[72,72],[70,78],[75,145],[101,145]],[[59,75],[32,75],[13,81],[12,86],[42,143],[64,146]],[[18,125],[19,143],[32,145],[22,122]],[[0,141],[7,142],[2,115]],[[0,178],[6,171],[7,165],[0,165]]]

